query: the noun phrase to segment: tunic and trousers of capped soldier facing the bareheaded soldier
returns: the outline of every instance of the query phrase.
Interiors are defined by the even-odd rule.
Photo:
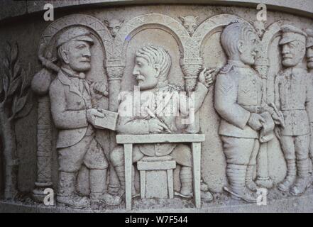
[[[302,68],[287,68],[275,78],[275,104],[282,111],[282,150],[287,160],[305,160],[309,154],[310,122],[313,121],[312,77]]]

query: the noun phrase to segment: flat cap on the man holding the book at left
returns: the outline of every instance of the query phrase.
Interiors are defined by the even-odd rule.
[[[57,40],[57,48],[70,40],[86,41],[92,44],[94,43],[94,40],[90,37],[90,32],[87,28],[69,28],[60,35]]]

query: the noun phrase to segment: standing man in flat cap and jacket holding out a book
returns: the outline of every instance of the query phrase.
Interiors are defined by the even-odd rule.
[[[75,192],[77,172],[82,165],[90,170],[92,208],[97,208],[101,200],[112,203],[118,199],[104,192],[108,162],[101,145],[95,140],[94,128],[95,119],[103,118],[104,114],[92,107],[91,89],[85,78],[91,67],[90,47],[93,43],[87,28],[64,31],[57,40],[57,55],[62,65],[50,86],[51,111],[59,131],[57,202],[75,208],[89,205],[87,197]]]

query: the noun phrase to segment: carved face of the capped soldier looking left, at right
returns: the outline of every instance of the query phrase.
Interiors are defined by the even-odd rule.
[[[302,62],[305,55],[305,44],[300,41],[292,41],[282,45],[282,65],[295,67]]]

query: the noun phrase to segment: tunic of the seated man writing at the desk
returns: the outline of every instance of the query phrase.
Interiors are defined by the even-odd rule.
[[[138,97],[136,96],[136,92],[123,94],[120,97],[121,104],[119,104],[117,131],[123,134],[149,134],[148,121],[153,117],[148,112],[151,111],[156,118],[168,126],[171,133],[181,133],[177,129],[177,118],[188,116],[191,109],[194,109],[194,112],[197,111],[207,95],[207,91],[207,87],[198,83],[194,91],[194,97],[197,97],[197,99],[192,99],[181,93],[178,87],[168,84],[165,81],[159,82],[158,87],[153,91],[140,91],[140,96]],[[136,110],[134,110],[136,109],[136,101],[139,104],[137,114]],[[163,133],[168,132],[164,131]],[[191,151],[190,148],[185,148],[185,146],[177,146],[175,143],[134,145],[133,156],[136,157],[133,157],[133,162],[140,160],[143,155],[172,155],[173,157],[177,157],[176,162],[178,164],[191,167]],[[116,160],[114,161],[116,162]]]

